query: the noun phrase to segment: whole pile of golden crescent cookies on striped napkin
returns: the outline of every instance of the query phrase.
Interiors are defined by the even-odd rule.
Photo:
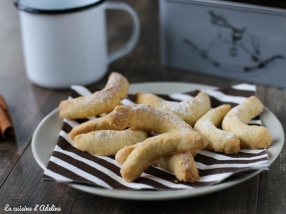
[[[255,96],[233,108],[212,108],[205,92],[181,102],[140,92],[135,104],[122,104],[128,88],[128,80],[112,72],[104,89],[59,106],[61,118],[96,116],[74,127],[69,136],[81,151],[115,156],[126,182],[151,165],[174,173],[179,181],[196,182],[200,176],[194,156],[200,150],[236,154],[240,148],[267,148],[272,142],[265,127],[248,125],[263,111]]]

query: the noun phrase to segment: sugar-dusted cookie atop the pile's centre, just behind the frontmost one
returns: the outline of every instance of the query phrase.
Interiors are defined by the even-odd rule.
[[[179,116],[145,104],[117,106],[109,115],[109,123],[120,129],[138,129],[166,133],[176,130],[193,130]]]

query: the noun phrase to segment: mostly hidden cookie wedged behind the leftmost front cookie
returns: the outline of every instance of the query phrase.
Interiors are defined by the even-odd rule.
[[[107,121],[108,114],[97,117],[92,120],[89,120],[87,122],[81,123],[78,126],[75,126],[71,132],[69,133],[69,136],[71,139],[74,139],[76,135],[88,133],[91,131],[98,131],[98,130],[121,130],[118,129],[118,127],[111,125]]]

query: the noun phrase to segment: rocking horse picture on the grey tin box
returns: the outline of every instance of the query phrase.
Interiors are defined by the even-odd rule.
[[[254,73],[285,62],[285,56],[279,53],[263,57],[258,36],[249,34],[245,26],[235,26],[214,11],[209,11],[209,15],[211,25],[218,30],[216,37],[205,48],[199,48],[188,38],[183,43],[212,66],[222,71]]]

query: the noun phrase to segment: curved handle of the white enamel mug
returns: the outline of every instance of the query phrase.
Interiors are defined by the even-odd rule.
[[[110,10],[123,10],[129,13],[132,17],[133,20],[133,31],[131,34],[131,37],[129,41],[124,44],[119,50],[111,53],[108,57],[108,63],[111,63],[123,55],[129,53],[136,43],[138,42],[139,39],[139,34],[140,34],[140,24],[139,24],[139,19],[136,14],[136,12],[133,10],[132,7],[130,7],[128,4],[123,3],[123,2],[106,2],[106,9]]]

